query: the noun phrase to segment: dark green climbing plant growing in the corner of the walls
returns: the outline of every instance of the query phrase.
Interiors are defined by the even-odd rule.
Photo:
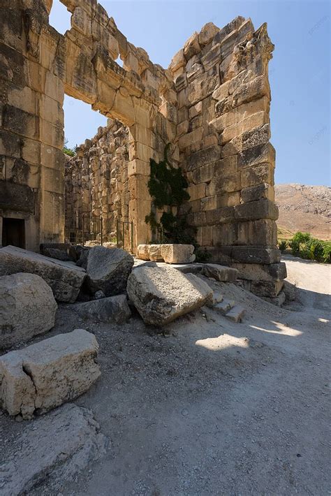
[[[199,248],[196,242],[196,228],[187,224],[187,214],[178,213],[181,205],[190,199],[186,191],[189,184],[182,173],[182,168],[175,168],[170,163],[169,148],[170,143],[165,146],[164,158],[159,163],[154,159],[149,160],[151,175],[147,187],[152,197],[152,210],[145,217],[145,222],[151,226],[153,240],[161,243],[193,245],[196,248],[196,259],[206,261],[210,255],[207,250]],[[164,207],[166,211],[158,222],[156,210]]]

